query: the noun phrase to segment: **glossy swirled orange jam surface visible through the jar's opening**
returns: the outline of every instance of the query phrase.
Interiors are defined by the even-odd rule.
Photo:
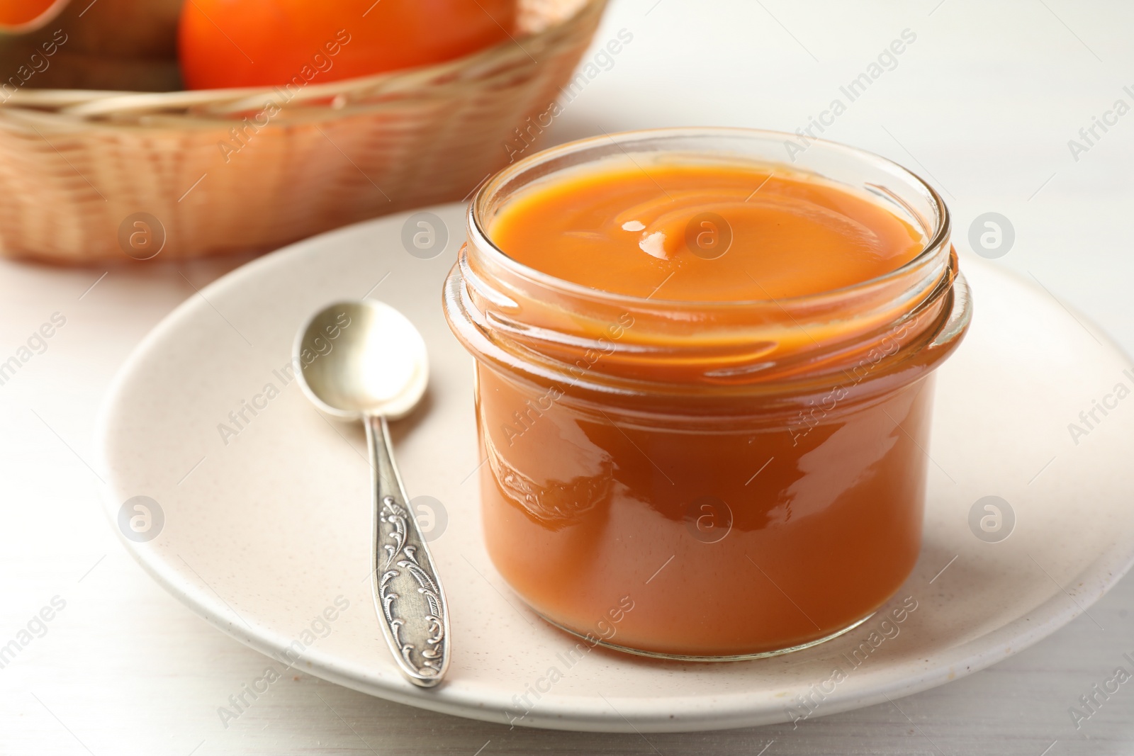
[[[672,273],[655,296],[693,301],[830,291],[921,252],[921,235],[885,207],[818,177],[779,173],[590,170],[509,202],[489,235],[517,262],[603,291],[646,296]]]

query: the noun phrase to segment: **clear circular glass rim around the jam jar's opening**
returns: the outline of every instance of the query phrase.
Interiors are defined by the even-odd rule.
[[[551,273],[547,273],[536,267],[532,267],[525,263],[517,261],[516,258],[509,256],[500,247],[496,245],[492,238],[489,236],[486,229],[484,228],[482,214],[486,207],[489,199],[494,195],[494,193],[505,185],[509,179],[516,178],[522,175],[525,170],[530,170],[535,165],[543,164],[556,158],[566,156],[577,152],[584,152],[587,148],[595,147],[606,143],[613,143],[623,153],[626,151],[623,148],[623,144],[638,139],[645,138],[659,138],[663,139],[667,137],[679,138],[679,137],[742,137],[742,138],[760,138],[760,139],[794,139],[798,135],[789,134],[787,131],[777,131],[772,129],[755,129],[755,128],[743,128],[743,127],[725,127],[725,126],[702,126],[702,127],[669,127],[669,128],[652,128],[652,129],[633,129],[628,131],[616,131],[613,134],[603,134],[602,136],[585,137],[583,139],[576,139],[573,142],[566,142],[553,147],[548,147],[545,150],[539,151],[535,154],[523,158],[510,165],[498,171],[488,181],[485,181],[477,189],[476,194],[473,195],[472,202],[468,204],[467,211],[467,226],[471,240],[475,243],[481,253],[488,252],[488,254],[493,258],[493,262],[500,264],[515,274],[522,278],[528,279],[533,283],[550,287],[565,291],[568,294],[596,297],[601,299],[608,299],[613,301],[626,303],[628,305],[640,305],[640,306],[651,306],[651,307],[687,307],[687,308],[743,308],[753,307],[767,304],[776,304],[782,306],[784,304],[790,304],[794,306],[806,307],[814,304],[822,303],[828,298],[841,298],[853,296],[857,291],[868,290],[879,284],[886,284],[894,281],[895,279],[900,279],[904,275],[911,273],[911,271],[916,270],[931,261],[942,247],[948,245],[949,236],[951,233],[951,215],[949,209],[945,203],[941,195],[934,189],[928,181],[921,178],[917,173],[914,173],[908,168],[890,160],[889,158],[883,158],[877,153],[870,152],[868,150],[861,150],[858,147],[852,147],[849,145],[841,144],[839,142],[832,142],[830,139],[814,138],[807,143],[807,148],[812,146],[820,146],[830,152],[839,152],[845,155],[854,156],[855,159],[865,160],[872,162],[877,167],[888,169],[890,172],[897,173],[908,179],[909,182],[917,189],[922,190],[930,201],[930,205],[933,211],[934,228],[931,232],[926,232],[928,240],[913,258],[906,261],[898,267],[887,271],[881,275],[875,275],[873,278],[857,281],[848,286],[839,287],[836,289],[827,289],[824,291],[818,291],[813,294],[797,295],[792,297],[767,297],[758,299],[733,299],[733,300],[694,300],[694,299],[665,299],[654,298],[653,294],[648,296],[627,295],[613,291],[607,291],[604,289],[599,289],[595,287],[590,287],[583,283],[576,283],[575,281],[569,281]],[[710,151],[705,151],[705,154],[710,154]],[[633,160],[633,159],[632,159]],[[773,164],[773,163],[768,163]],[[796,172],[807,172],[807,171],[796,171]],[[820,178],[826,178],[819,172],[814,172]],[[886,193],[885,187],[877,187],[883,193]],[[889,195],[889,193],[887,193]],[[905,204],[897,197],[889,195],[891,199],[898,202],[898,204]],[[909,210],[907,207],[907,210]],[[912,211],[911,211],[912,212]],[[912,214],[916,216],[916,213]],[[924,229],[923,229],[924,231]],[[660,288],[660,287],[659,287]]]

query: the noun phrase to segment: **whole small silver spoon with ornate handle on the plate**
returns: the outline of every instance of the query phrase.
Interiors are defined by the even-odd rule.
[[[338,301],[299,329],[294,359],[299,385],[319,409],[366,425],[374,489],[374,606],[403,673],[415,685],[433,687],[449,665],[449,612],[387,427],[387,419],[407,415],[425,393],[425,341],[389,305]]]

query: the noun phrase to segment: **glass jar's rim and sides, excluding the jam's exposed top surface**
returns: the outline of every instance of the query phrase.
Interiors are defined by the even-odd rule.
[[[472,202],[445,309],[476,358],[488,551],[592,645],[683,660],[803,648],[865,621],[917,559],[932,371],[971,314],[949,213],[858,150],[816,141],[782,165],[788,138],[583,139],[509,165]],[[816,175],[905,220],[923,249],[833,291],[699,303],[568,282],[493,245],[493,218],[525,188],[626,159]]]

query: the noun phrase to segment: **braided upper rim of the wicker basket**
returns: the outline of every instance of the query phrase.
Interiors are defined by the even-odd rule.
[[[307,84],[289,97],[286,104],[288,110],[318,107],[325,117],[328,110],[344,112],[344,104],[352,97],[365,99],[366,107],[347,109],[349,112],[372,111],[375,105],[383,104],[383,99],[404,102],[441,97],[446,91],[469,79],[482,80],[494,75],[506,77],[516,63],[538,62],[533,52],[540,53],[561,37],[572,35],[590,16],[601,12],[606,3],[607,0],[579,0],[574,12],[557,23],[523,36],[502,40],[460,58],[370,76]],[[66,121],[86,127],[101,124],[116,128],[146,128],[144,121],[110,119],[116,116],[143,118],[160,114],[168,117],[158,119],[167,121],[160,128],[176,128],[168,122],[175,119],[180,127],[215,126],[218,122],[230,122],[234,114],[260,110],[264,107],[265,96],[278,95],[286,87],[285,84],[172,92],[28,87],[19,90],[7,101],[0,101],[0,121],[7,120],[12,125],[19,121],[37,121],[43,125]],[[33,117],[25,120],[28,116]]]

